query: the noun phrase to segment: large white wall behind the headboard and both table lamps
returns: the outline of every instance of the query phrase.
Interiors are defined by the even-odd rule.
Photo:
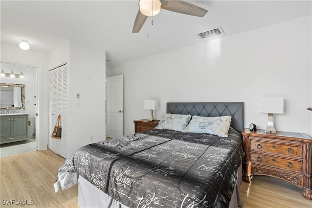
[[[277,131],[312,134],[311,16],[113,67],[124,75],[124,134],[135,119],[147,118],[144,99],[158,99],[156,119],[166,102],[244,102],[245,127],[265,129],[257,97],[284,97],[284,114],[275,114]]]

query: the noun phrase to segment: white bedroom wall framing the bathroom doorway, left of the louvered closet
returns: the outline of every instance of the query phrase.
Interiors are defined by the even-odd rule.
[[[3,63],[12,63],[22,66],[38,68],[38,122],[40,132],[38,134],[38,150],[47,149],[48,144],[48,55],[32,50],[23,51],[20,47],[1,43],[1,60]],[[33,80],[34,82],[36,80]]]

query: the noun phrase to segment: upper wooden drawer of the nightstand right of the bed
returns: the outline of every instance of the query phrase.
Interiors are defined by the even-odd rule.
[[[302,147],[287,144],[251,140],[250,150],[302,158]]]

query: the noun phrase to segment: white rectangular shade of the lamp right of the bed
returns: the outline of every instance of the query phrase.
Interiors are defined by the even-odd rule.
[[[284,98],[258,97],[258,113],[284,113]]]

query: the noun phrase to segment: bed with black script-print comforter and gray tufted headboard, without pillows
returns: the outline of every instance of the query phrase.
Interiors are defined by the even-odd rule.
[[[231,116],[228,137],[153,129],[80,148],[57,172],[81,207],[242,206],[243,103],[167,103],[167,113]]]

